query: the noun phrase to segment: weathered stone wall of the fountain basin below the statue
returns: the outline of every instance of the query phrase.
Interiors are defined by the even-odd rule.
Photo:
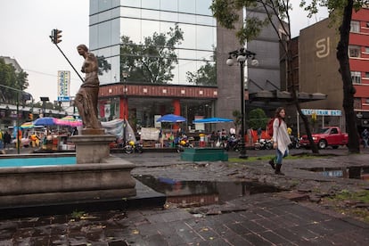
[[[0,168],[0,209],[135,196],[133,168],[119,158],[83,165]]]

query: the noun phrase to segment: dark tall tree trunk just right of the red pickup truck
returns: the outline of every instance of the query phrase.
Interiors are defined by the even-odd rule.
[[[340,26],[340,41],[337,45],[337,60],[340,62],[340,76],[343,83],[343,109],[345,111],[346,128],[348,132],[348,152],[359,153],[360,143],[357,132],[356,113],[354,111],[355,87],[352,85],[351,70],[348,61],[348,38],[353,11],[358,11],[368,2],[364,0],[313,0],[311,4],[301,1],[309,14],[317,12],[317,6],[328,8],[332,22]]]

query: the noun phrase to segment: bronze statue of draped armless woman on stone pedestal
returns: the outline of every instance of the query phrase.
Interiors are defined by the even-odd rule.
[[[79,87],[74,100],[78,108],[79,116],[85,129],[101,128],[101,123],[97,119],[97,98],[99,94],[98,63],[94,53],[89,53],[86,45],[78,45],[78,53],[85,58],[82,65],[82,72],[86,73],[85,81]]]

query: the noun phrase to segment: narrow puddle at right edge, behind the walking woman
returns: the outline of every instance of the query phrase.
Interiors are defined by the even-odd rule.
[[[343,178],[356,178],[369,181],[369,167],[348,167],[348,168],[307,168],[323,176],[335,176]]]

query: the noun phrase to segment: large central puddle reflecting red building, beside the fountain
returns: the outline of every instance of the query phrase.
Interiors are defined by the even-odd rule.
[[[237,197],[256,193],[278,193],[275,186],[256,182],[177,181],[167,177],[135,176],[158,193],[167,195],[167,202],[181,207],[222,204]]]

